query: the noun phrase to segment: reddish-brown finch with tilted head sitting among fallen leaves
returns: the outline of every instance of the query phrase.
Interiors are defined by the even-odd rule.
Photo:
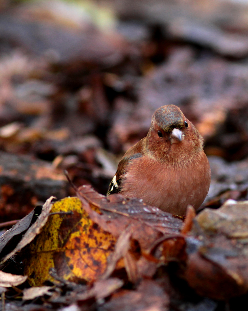
[[[107,196],[120,193],[183,216],[197,210],[208,194],[211,172],[203,137],[179,107],[166,105],[152,115],[147,136],[119,162]]]

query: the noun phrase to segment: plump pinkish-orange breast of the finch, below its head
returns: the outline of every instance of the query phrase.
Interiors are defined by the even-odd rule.
[[[210,184],[206,155],[183,167],[158,162],[148,156],[133,160],[123,175],[125,197],[142,198],[145,203],[176,215],[185,215],[188,204],[197,209],[204,201]]]

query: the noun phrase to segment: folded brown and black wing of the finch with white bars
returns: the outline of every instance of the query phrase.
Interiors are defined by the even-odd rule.
[[[144,138],[143,138],[144,139]],[[113,177],[107,192],[107,196],[114,193],[121,192],[121,180],[123,175],[127,172],[127,166],[131,160],[137,159],[142,156],[142,142],[143,139],[137,142],[130,148],[120,160],[115,176]]]

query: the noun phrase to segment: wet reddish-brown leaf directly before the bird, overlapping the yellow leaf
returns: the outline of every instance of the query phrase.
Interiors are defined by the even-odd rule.
[[[105,197],[88,185],[80,187],[77,195],[91,219],[115,237],[133,224],[132,238],[137,239],[144,249],[148,249],[163,234],[180,234],[181,220],[157,207],[146,205],[140,199],[128,199],[120,194]],[[101,214],[91,207],[99,208]]]

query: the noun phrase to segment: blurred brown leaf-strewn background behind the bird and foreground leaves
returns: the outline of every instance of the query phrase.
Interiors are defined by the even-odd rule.
[[[91,184],[105,194],[151,116],[204,137],[204,206],[248,188],[248,1],[0,1],[0,217]],[[189,172],[190,174],[190,172]]]

